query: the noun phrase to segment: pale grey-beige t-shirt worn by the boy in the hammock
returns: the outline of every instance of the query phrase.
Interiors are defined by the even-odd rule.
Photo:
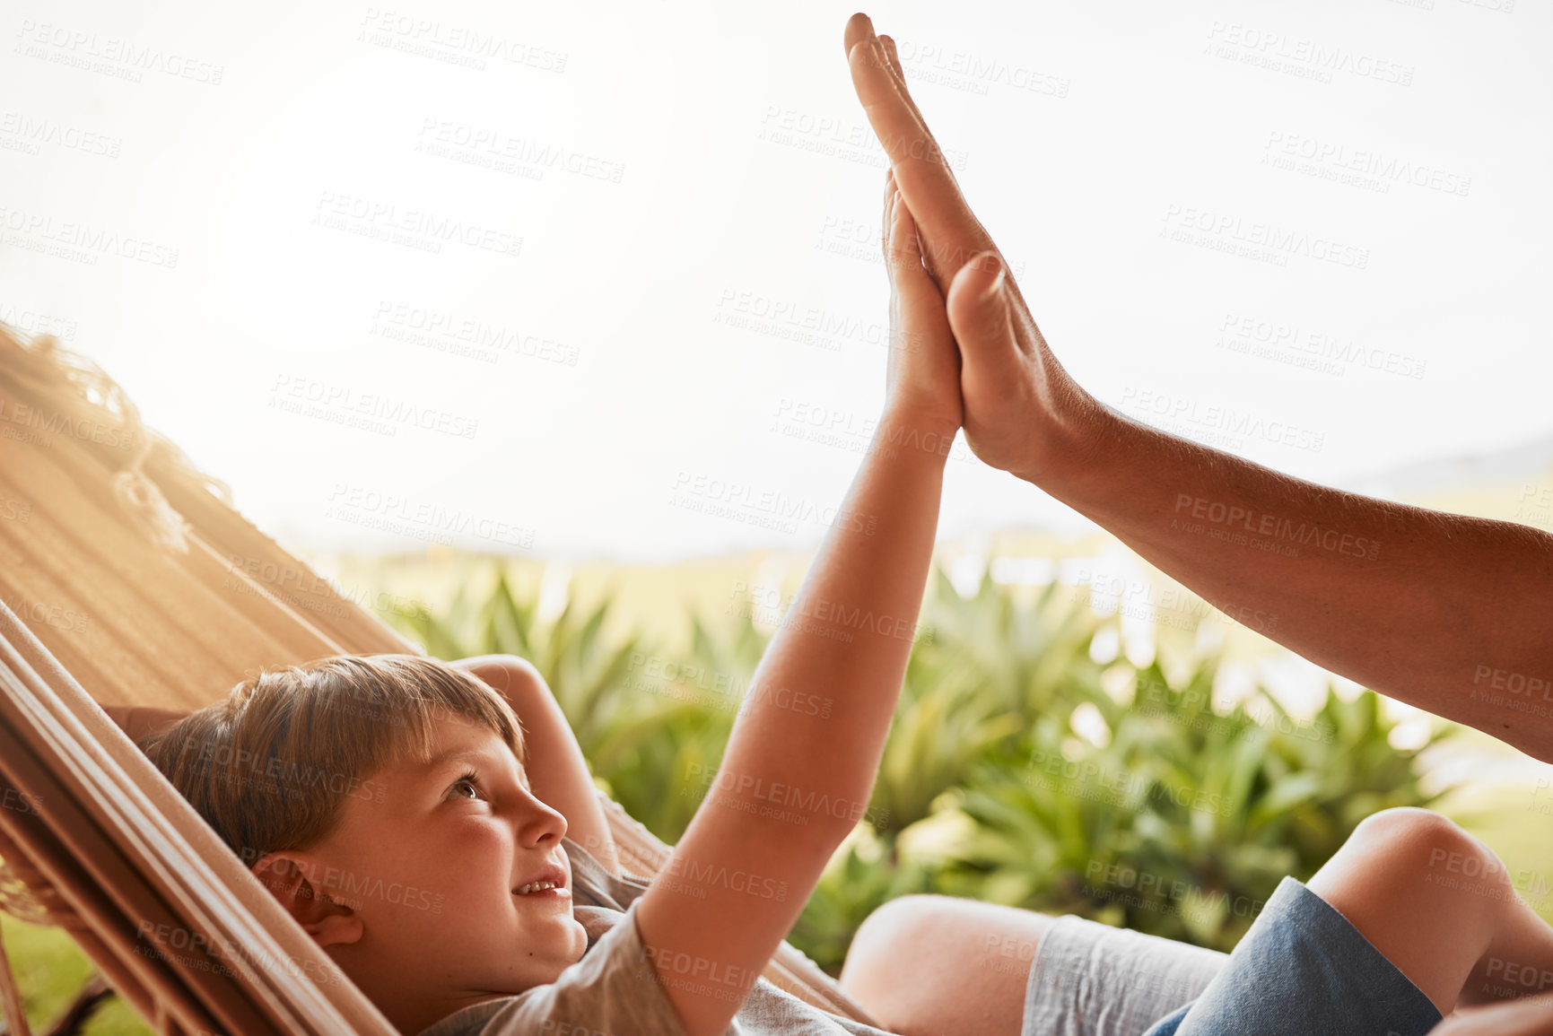
[[[421,1036],[685,1036],[637,932],[648,882],[617,878],[572,839],[572,912],[587,929],[582,958],[548,985],[461,1008]],[[731,989],[739,996],[742,989]],[[728,1025],[738,1036],[893,1036],[822,1011],[758,979]]]

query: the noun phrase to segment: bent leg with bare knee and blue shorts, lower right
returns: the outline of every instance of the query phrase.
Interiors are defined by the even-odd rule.
[[[1438,814],[1387,809],[1309,885],[1286,878],[1204,994],[1148,1036],[1421,1036],[1492,999],[1482,982],[1506,968],[1553,971],[1553,933],[1503,864]]]

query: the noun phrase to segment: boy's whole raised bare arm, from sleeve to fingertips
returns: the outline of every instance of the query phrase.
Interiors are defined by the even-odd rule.
[[[888,391],[851,491],[750,683],[685,837],[637,906],[685,1031],[725,1031],[865,814],[905,676],[960,426],[958,360],[887,179]],[[893,252],[891,252],[893,250]]]

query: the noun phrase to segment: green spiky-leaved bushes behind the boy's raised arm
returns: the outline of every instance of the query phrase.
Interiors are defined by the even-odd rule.
[[[749,612],[690,617],[690,649],[666,652],[606,638],[607,607],[542,621],[499,578],[483,601],[396,621],[439,657],[531,660],[599,784],[672,843],[699,801],[686,774],[721,760],[767,635]],[[1159,662],[1100,665],[1107,626],[1059,584],[1028,601],[983,576],[961,598],[935,570],[874,826],[826,868],[794,944],[836,974],[870,912],[938,892],[1228,949],[1283,874],[1309,878],[1378,809],[1427,805],[1374,694],[1328,688],[1305,722],[1263,688],[1216,711],[1214,657],[1174,682]]]

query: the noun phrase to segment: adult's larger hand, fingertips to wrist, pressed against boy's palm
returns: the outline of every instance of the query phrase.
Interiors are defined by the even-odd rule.
[[[846,62],[868,123],[916,221],[929,273],[960,346],[966,441],[977,457],[1041,481],[1084,452],[1104,408],[1047,348],[1006,262],[955,182],[905,89],[888,36],[867,14],[846,22]]]

